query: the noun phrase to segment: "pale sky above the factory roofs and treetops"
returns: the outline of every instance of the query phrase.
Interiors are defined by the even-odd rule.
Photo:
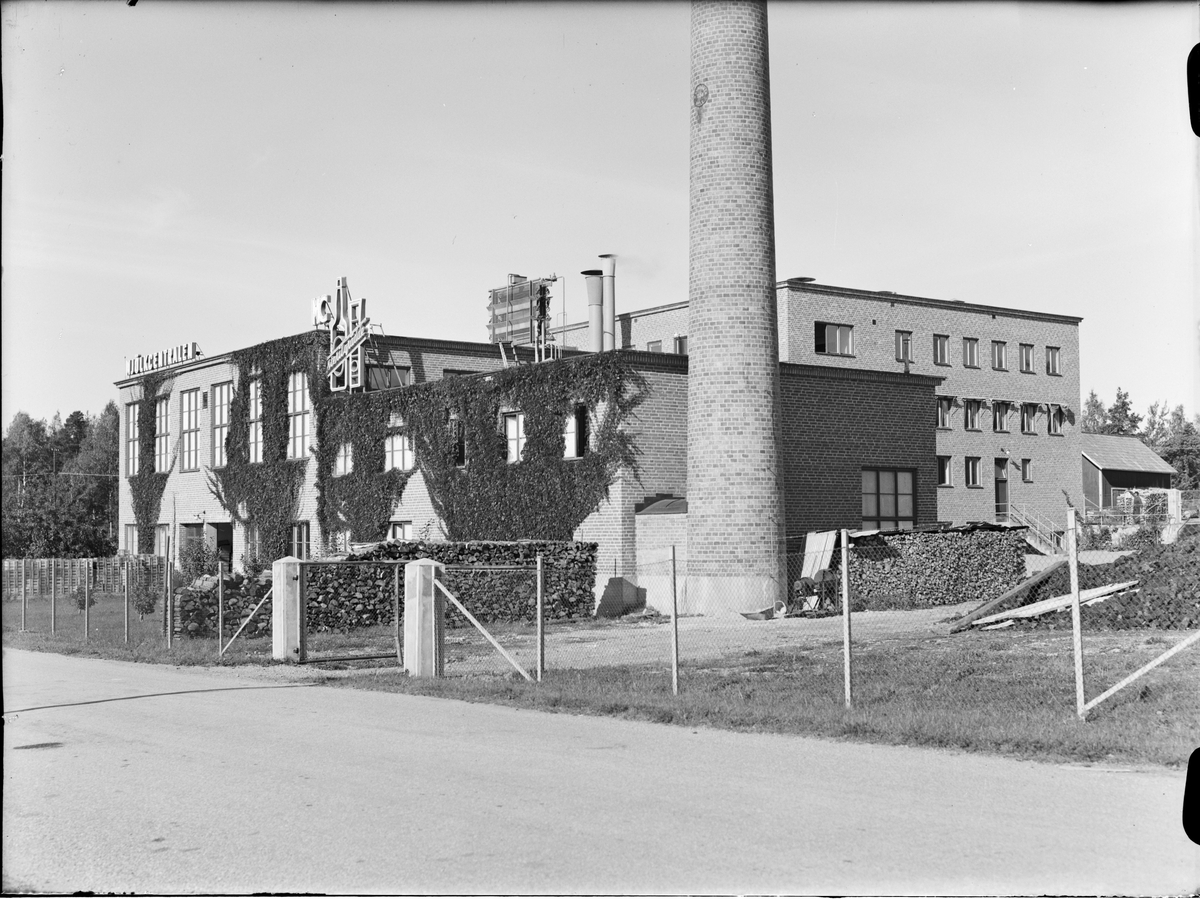
[[[1081,389],[1200,412],[1195,4],[772,4],[778,274],[1082,316]],[[2,5],[2,418],[124,358],[305,330],[487,340],[617,253],[688,295],[686,4]]]

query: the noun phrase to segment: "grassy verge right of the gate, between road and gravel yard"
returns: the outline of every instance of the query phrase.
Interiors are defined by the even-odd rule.
[[[1032,639],[1030,639],[1032,636]],[[1086,639],[1087,695],[1154,658],[1178,635]],[[1184,652],[1092,712],[1074,715],[1070,635],[971,634],[858,647],[852,712],[842,707],[841,648],[748,652],[680,672],[661,667],[416,681],[377,670],[337,685],[616,715],[682,726],[940,747],[1060,762],[1180,767],[1200,735],[1200,652]],[[334,683],[334,682],[331,682]]]

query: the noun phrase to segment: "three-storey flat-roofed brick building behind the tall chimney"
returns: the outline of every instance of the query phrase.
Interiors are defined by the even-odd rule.
[[[1027,310],[1004,308],[858,290],[791,278],[776,284],[779,359],[782,380],[788,372],[836,370],[859,378],[846,390],[841,407],[812,409],[806,420],[812,459],[808,490],[820,495],[823,463],[842,439],[862,446],[864,439],[888,440],[896,426],[878,415],[880,394],[892,382],[870,374],[901,377],[905,372],[940,378],[936,396],[918,413],[919,426],[935,427],[935,449],[924,460],[917,483],[936,519],[955,525],[971,521],[1043,520],[1062,529],[1063,491],[1082,508],[1080,477],[1079,322]],[[652,353],[686,353],[689,304],[673,302],[617,317],[618,346]],[[556,335],[568,347],[587,346],[588,323],[566,325]],[[847,382],[839,382],[848,383]],[[799,419],[797,396],[786,392],[785,432]],[[788,410],[794,410],[788,414]],[[830,414],[835,419],[830,419]],[[824,427],[836,420],[836,426]],[[793,428],[793,440],[802,439]],[[827,431],[827,433],[823,433]],[[852,437],[847,438],[847,434]],[[913,434],[896,431],[905,440]],[[820,446],[820,449],[818,449]],[[858,455],[857,450],[851,455]],[[793,481],[796,478],[794,468]],[[828,479],[826,479],[828,480]],[[841,503],[845,484],[829,501]],[[826,505],[823,502],[822,505]],[[860,521],[846,507],[841,514],[814,517],[840,525],[872,527],[866,509]],[[803,516],[809,517],[808,513]],[[805,521],[806,526],[808,521]],[[918,522],[919,523],[919,522]],[[907,522],[896,522],[905,527]],[[788,516],[788,534],[797,522]]]

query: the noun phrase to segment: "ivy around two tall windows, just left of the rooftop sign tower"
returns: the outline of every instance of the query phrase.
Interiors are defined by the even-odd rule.
[[[283,558],[296,520],[308,457],[288,459],[288,376],[304,372],[318,426],[329,395],[324,335],[308,331],[233,353],[238,379],[229,403],[226,465],[209,472],[209,490],[229,516],[258,531],[259,555]],[[250,461],[250,383],[259,382],[262,462]],[[319,442],[319,433],[318,433]]]

